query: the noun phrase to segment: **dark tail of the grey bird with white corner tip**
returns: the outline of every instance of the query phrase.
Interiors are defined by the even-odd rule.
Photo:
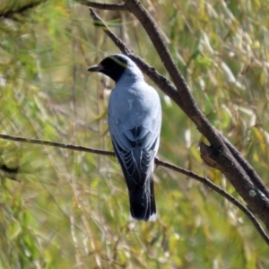
[[[156,205],[152,174],[146,179],[143,187],[136,185],[135,189],[132,192],[129,192],[129,197],[130,211],[135,220],[156,220]]]

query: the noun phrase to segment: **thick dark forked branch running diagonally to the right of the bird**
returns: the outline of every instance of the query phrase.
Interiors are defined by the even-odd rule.
[[[247,207],[265,223],[269,230],[269,190],[265,187],[262,179],[256,174],[251,165],[242,157],[242,155],[224,138],[207,120],[204,114],[195,104],[191,92],[189,91],[187,82],[182,74],[178,71],[174,64],[169,50],[166,47],[161,33],[142,5],[136,0],[124,0],[126,7],[130,13],[141,22],[143,28],[148,33],[152,44],[156,48],[165,67],[167,68],[175,86],[166,78],[159,74],[155,68],[147,65],[140,57],[134,55],[134,52],[126,46],[126,44],[117,38],[117,36],[108,29],[105,22],[90,9],[91,17],[98,25],[102,25],[110,39],[112,39],[124,54],[130,56],[134,62],[147,74],[153,82],[155,82],[169,97],[174,100],[178,107],[181,108],[187,117],[190,117],[198,130],[204,134],[211,143],[210,147],[201,145],[202,159],[212,167],[220,169],[221,172],[230,180],[230,183],[239,192],[239,195],[246,201]],[[250,195],[250,194],[256,195]]]

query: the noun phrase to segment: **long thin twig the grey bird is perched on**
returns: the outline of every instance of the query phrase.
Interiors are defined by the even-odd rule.
[[[4,140],[16,141],[16,142],[21,142],[21,143],[32,143],[32,144],[53,146],[53,147],[63,148],[63,149],[67,149],[67,150],[73,150],[73,151],[77,151],[77,152],[91,152],[94,154],[115,156],[114,152],[92,149],[92,148],[77,146],[77,145],[73,145],[73,144],[50,142],[47,140],[24,138],[24,137],[20,137],[20,136],[12,136],[12,135],[7,135],[7,134],[0,134],[0,138],[2,138]],[[162,167],[165,167],[167,169],[174,170],[178,173],[186,175],[189,178],[194,178],[195,180],[206,185],[207,187],[211,187],[215,192],[217,192],[218,194],[220,194],[221,196],[223,196],[224,198],[229,200],[231,204],[234,204],[236,207],[239,208],[239,210],[241,210],[243,213],[245,213],[247,215],[247,217],[249,218],[249,220],[252,221],[252,223],[256,227],[256,230],[259,232],[259,234],[265,240],[266,244],[269,245],[269,237],[265,233],[265,230],[263,229],[261,224],[256,220],[256,217],[254,216],[254,214],[251,213],[245,205],[241,204],[235,197],[231,196],[229,193],[227,193],[221,187],[218,187],[217,185],[215,185],[208,178],[200,177],[190,170],[182,169],[182,168],[180,168],[174,164],[171,164],[167,161],[161,161],[161,160],[159,160],[159,158],[155,158],[155,164],[157,166],[162,166]]]

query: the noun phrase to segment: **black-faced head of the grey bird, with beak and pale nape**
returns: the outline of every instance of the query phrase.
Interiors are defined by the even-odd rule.
[[[91,66],[88,71],[106,74],[115,82],[118,82],[123,74],[143,77],[137,65],[129,57],[122,54],[110,55],[104,58],[99,65]]]

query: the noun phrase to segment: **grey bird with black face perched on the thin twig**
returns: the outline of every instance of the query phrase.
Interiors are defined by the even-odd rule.
[[[160,96],[128,56],[107,56],[88,71],[116,83],[108,100],[108,128],[126,180],[130,212],[136,221],[156,221],[153,169],[161,134]]]

